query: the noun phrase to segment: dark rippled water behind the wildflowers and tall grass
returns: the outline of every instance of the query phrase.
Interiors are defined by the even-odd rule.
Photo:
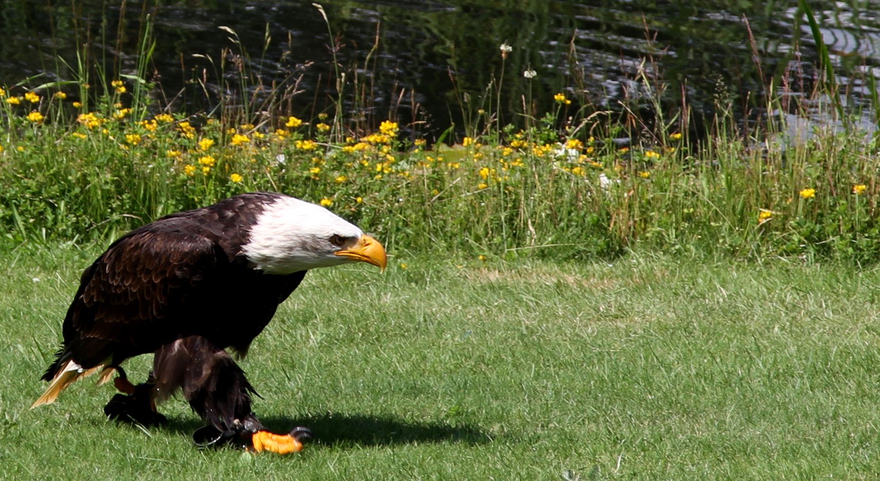
[[[866,78],[880,74],[880,0],[810,4],[847,104],[868,105]],[[467,116],[463,110],[480,107],[487,86],[502,75],[499,46],[506,42],[512,51],[503,63],[504,121],[517,120],[522,96],[530,88],[538,111],[552,107],[557,92],[581,94],[599,107],[617,107],[617,100],[647,93],[636,82],[642,68],[649,78],[667,85],[664,105],[674,108],[684,99],[700,117],[714,112],[716,100],[730,99],[746,121],[786,115],[762,109],[771,80],[779,92],[809,97],[818,78],[817,48],[796,5],[749,0],[328,0],[323,6],[331,38],[309,1],[11,0],[0,2],[0,85],[40,72],[45,76],[32,85],[72,79],[73,72],[59,59],[75,66],[77,46],[93,59],[103,58],[108,70],[121,70],[107,72],[108,77],[134,73],[138,39],[149,14],[157,44],[148,77],[158,82],[164,94],[157,89],[156,95],[164,96],[163,103],[180,102],[190,109],[207,110],[223,96],[240,99],[231,73],[234,57],[227,55],[221,68],[224,48],[232,54],[242,51],[219,28],[227,26],[238,33],[247,53],[244,64],[263,85],[290,88],[298,80],[301,93],[293,96],[290,112],[306,117],[332,108],[336,76],[331,45],[336,44],[340,70],[347,72],[347,115],[423,121],[420,130],[436,136],[451,122],[460,127]],[[368,57],[370,63],[365,62]],[[537,78],[525,79],[524,70],[535,70]],[[358,97],[352,95],[355,74]],[[244,87],[252,94],[254,88],[253,82]],[[465,97],[471,104],[462,108]]]

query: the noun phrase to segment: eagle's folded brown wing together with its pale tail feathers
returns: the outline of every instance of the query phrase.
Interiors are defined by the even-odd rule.
[[[154,225],[150,225],[154,226]],[[147,227],[150,227],[147,226]],[[156,226],[154,226],[156,227]],[[85,270],[64,320],[64,343],[43,379],[51,403],[71,382],[107,362],[155,351],[187,330],[187,306],[198,304],[226,255],[208,239],[142,228],[107,249]],[[192,301],[191,301],[192,300]],[[75,372],[74,365],[84,371]],[[39,403],[39,401],[38,401]]]

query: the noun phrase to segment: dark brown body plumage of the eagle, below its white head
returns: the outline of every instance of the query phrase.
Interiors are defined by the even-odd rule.
[[[241,253],[249,228],[277,196],[231,197],[115,241],[84,271],[64,319],[62,351],[43,379],[53,380],[70,360],[88,370],[156,352],[150,402],[182,388],[220,431],[249,415],[253,388],[225,349],[246,352],[305,275],[265,274]]]

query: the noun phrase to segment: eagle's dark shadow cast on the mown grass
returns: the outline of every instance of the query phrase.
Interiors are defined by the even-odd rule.
[[[304,418],[262,416],[260,422],[269,431],[286,433],[297,426],[305,426],[315,435],[319,446],[392,446],[403,444],[462,442],[484,444],[491,438],[478,426],[449,424],[442,421],[410,422],[392,416],[365,416],[359,414],[325,414]],[[169,418],[161,429],[191,435],[202,427],[194,419]]]

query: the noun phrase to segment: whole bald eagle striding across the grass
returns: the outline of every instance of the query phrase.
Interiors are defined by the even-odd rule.
[[[197,442],[298,451],[311,433],[264,428],[227,349],[243,356],[307,270],[351,262],[384,270],[385,248],[325,208],[275,193],[233,196],[131,231],[84,271],[62,349],[42,376],[49,386],[32,408],[89,374],[103,383],[116,373],[110,418],[163,422],[156,403],[180,390],[208,422]],[[150,352],[152,372],[135,386],[121,363]]]

